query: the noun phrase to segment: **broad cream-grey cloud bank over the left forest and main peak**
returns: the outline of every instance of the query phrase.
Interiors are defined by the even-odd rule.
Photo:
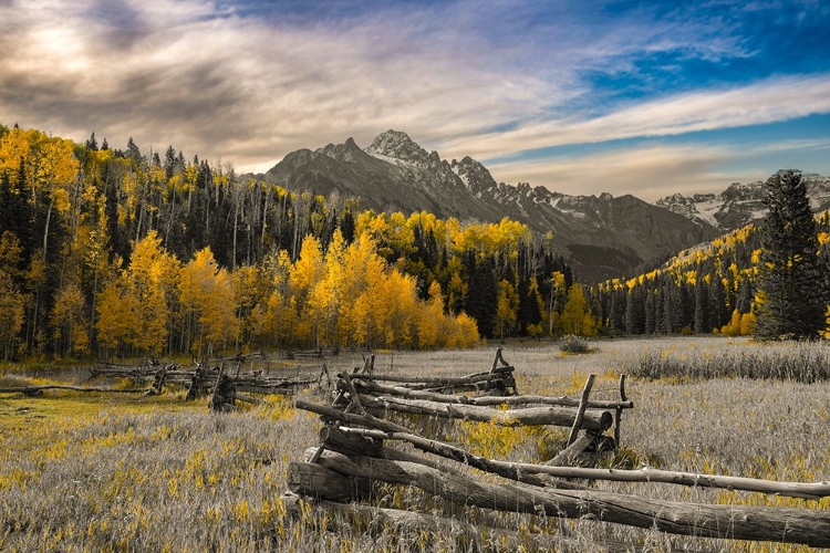
[[[90,17],[105,4],[0,9],[0,121],[251,165],[390,127],[475,133],[556,100],[533,75],[486,67],[480,39],[433,40],[433,13],[291,27],[154,0]]]

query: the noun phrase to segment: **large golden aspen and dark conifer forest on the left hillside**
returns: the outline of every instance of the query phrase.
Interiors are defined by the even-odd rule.
[[[291,194],[172,146],[0,126],[3,357],[595,334],[544,237]]]

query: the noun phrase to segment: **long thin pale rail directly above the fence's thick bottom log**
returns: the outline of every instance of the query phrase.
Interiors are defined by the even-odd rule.
[[[449,444],[443,444],[437,440],[426,439],[421,436],[416,436],[408,432],[385,432],[382,430],[364,430],[360,428],[341,428],[342,431],[347,434],[354,434],[357,436],[365,436],[370,438],[385,439],[385,440],[400,440],[412,444],[413,446],[424,451],[429,451],[435,455],[443,455],[443,451],[447,451],[449,448],[458,449],[457,452],[449,455],[443,455],[448,459],[460,460],[461,462],[469,465],[470,467],[486,470],[483,467],[494,463],[501,465],[501,469],[505,472],[513,471],[521,474],[546,474],[553,478],[573,478],[581,480],[605,480],[612,482],[656,482],[656,483],[668,483],[677,486],[687,486],[691,488],[715,488],[724,490],[737,490],[748,491],[756,493],[766,493],[772,495],[781,495],[788,498],[810,499],[820,500],[822,498],[830,497],[830,482],[778,482],[772,480],[759,480],[755,478],[743,478],[743,477],[725,477],[719,474],[699,474],[694,472],[676,472],[670,470],[658,470],[652,468],[643,468],[637,470],[622,470],[622,469],[595,469],[595,468],[580,468],[580,467],[561,467],[552,465],[533,465],[527,462],[507,462],[497,461],[489,459],[487,462],[473,460],[476,456],[469,453],[460,448],[456,448]],[[418,444],[426,444],[427,447],[419,447]],[[437,446],[437,447],[434,447]],[[432,449],[434,447],[434,449]],[[385,451],[394,451],[386,449]],[[345,451],[341,451],[345,452]],[[357,453],[356,450],[352,452]],[[501,474],[505,476],[505,474]],[[509,478],[509,477],[505,477]],[[515,479],[512,479],[515,480]]]

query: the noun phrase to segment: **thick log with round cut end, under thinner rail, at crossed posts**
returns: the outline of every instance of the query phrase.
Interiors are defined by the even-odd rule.
[[[477,405],[442,404],[426,399],[406,399],[395,396],[370,396],[362,394],[361,403],[367,409],[377,411],[395,410],[414,415],[428,415],[448,419],[477,420],[499,426],[564,426],[570,427],[577,418],[577,410],[569,407],[528,407],[525,409],[494,409]],[[606,430],[611,428],[613,416],[610,411],[585,411],[582,428]]]

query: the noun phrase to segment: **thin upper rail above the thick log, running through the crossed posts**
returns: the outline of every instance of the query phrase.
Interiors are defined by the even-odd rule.
[[[364,394],[372,395],[390,395],[401,396],[409,399],[429,399],[432,401],[438,401],[443,404],[466,404],[466,405],[478,405],[483,407],[495,407],[507,405],[509,407],[520,407],[528,405],[556,405],[560,407],[579,407],[579,399],[574,399],[568,396],[561,397],[549,397],[549,396],[453,396],[447,394],[438,394],[436,392],[427,392],[423,389],[412,389],[404,386],[390,386],[381,384],[374,380],[364,380],[359,378],[352,378],[355,388]],[[604,401],[589,399],[589,409],[632,409],[634,408],[634,401]]]

